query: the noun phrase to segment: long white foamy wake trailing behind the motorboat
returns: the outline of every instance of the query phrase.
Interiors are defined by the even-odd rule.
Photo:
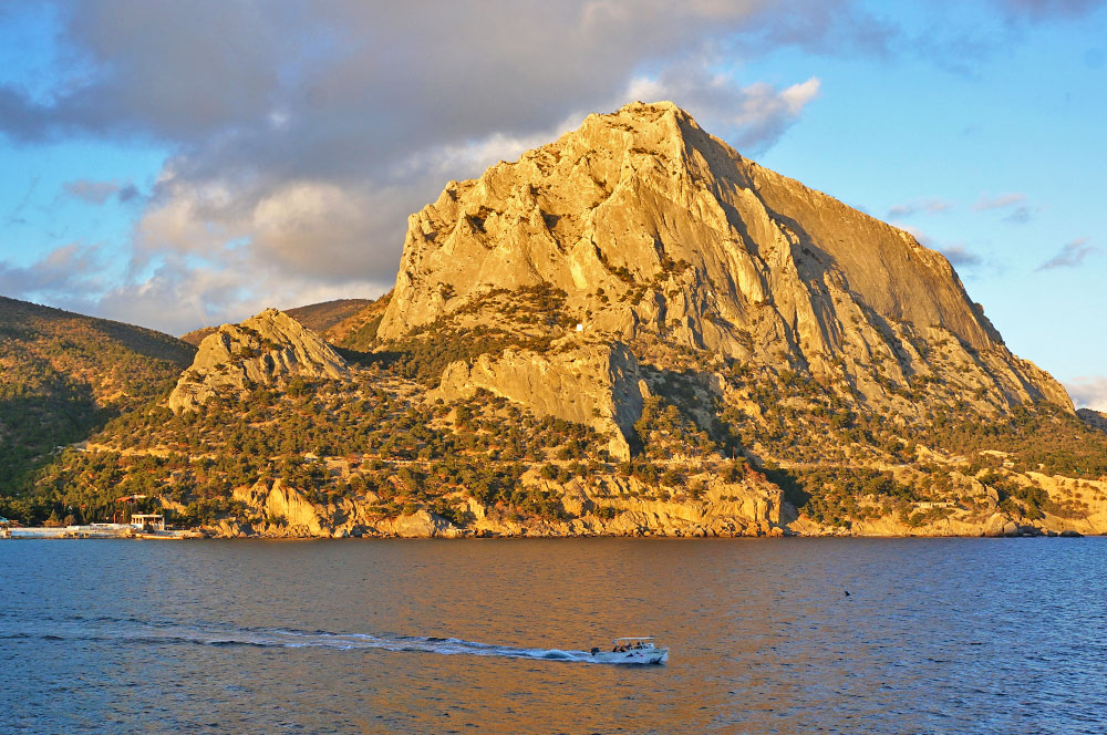
[[[383,650],[441,655],[475,655],[536,661],[603,663],[588,651],[526,649],[434,635],[374,635],[289,628],[235,628],[136,619],[81,618],[40,620],[37,631],[4,631],[0,640],[89,641],[141,645],[211,645],[275,649]]]

